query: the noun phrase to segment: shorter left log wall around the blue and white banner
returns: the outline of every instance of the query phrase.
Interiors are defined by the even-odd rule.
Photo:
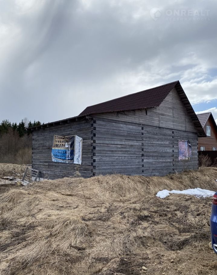
[[[40,170],[39,177],[57,179],[73,176],[78,171],[82,177],[92,176],[92,121],[74,121],[68,124],[50,126],[33,132],[32,167]],[[83,138],[82,164],[55,163],[51,160],[54,135],[78,135]]]

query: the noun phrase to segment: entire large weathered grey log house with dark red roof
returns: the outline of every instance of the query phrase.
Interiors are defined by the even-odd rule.
[[[32,167],[50,179],[77,171],[82,177],[164,176],[198,169],[198,136],[206,136],[179,81],[89,106],[32,131]],[[66,137],[69,146],[72,135],[83,138],[81,165],[52,162],[51,151],[58,154],[53,142],[63,147]]]

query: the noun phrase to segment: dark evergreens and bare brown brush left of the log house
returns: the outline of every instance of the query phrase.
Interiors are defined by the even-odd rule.
[[[3,120],[0,124],[0,162],[30,164],[32,158],[31,127],[42,125],[27,118],[19,123]]]

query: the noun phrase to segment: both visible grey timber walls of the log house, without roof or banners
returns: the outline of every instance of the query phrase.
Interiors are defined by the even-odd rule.
[[[69,122],[69,121],[68,121]],[[53,135],[83,138],[82,165],[51,161]],[[193,155],[178,160],[178,140],[189,140]],[[33,168],[55,179],[122,173],[163,176],[198,169],[198,136],[178,92],[173,89],[159,107],[102,113],[33,132]]]

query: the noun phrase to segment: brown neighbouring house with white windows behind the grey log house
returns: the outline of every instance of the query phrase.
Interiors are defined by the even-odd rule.
[[[217,150],[217,125],[212,113],[202,113],[197,115],[206,137],[199,137],[199,151],[216,151]]]

